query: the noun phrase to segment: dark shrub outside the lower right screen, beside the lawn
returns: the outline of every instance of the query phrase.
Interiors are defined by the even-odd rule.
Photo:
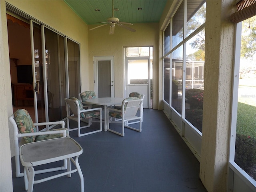
[[[256,165],[256,140],[250,136],[236,134],[235,162],[245,172]]]

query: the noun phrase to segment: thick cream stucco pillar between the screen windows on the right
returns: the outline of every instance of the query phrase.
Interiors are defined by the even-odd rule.
[[[204,111],[200,178],[209,192],[228,182],[234,1],[206,1]]]

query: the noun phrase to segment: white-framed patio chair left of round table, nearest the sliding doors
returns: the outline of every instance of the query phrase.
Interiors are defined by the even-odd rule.
[[[64,100],[66,102],[68,130],[70,130],[70,131],[78,130],[78,137],[102,131],[102,108],[83,109],[83,106],[82,106],[80,100],[78,100],[75,97],[70,97],[69,99],[65,98]],[[98,117],[100,118],[100,121],[97,121],[97,122],[100,122],[100,129],[81,134],[82,128],[90,127],[91,123],[95,122],[95,121],[90,121],[90,119],[98,118]],[[78,127],[70,129],[69,120],[76,121],[78,124]],[[81,127],[80,126],[81,121],[87,123],[88,125]]]

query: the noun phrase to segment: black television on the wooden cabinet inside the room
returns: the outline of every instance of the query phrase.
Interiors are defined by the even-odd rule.
[[[32,65],[17,65],[17,81],[33,84]]]

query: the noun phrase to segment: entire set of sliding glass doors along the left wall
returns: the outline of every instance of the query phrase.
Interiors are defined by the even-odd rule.
[[[64,98],[78,97],[81,91],[80,45],[39,22],[11,14],[7,20],[13,110],[28,110],[34,122],[62,120]]]

